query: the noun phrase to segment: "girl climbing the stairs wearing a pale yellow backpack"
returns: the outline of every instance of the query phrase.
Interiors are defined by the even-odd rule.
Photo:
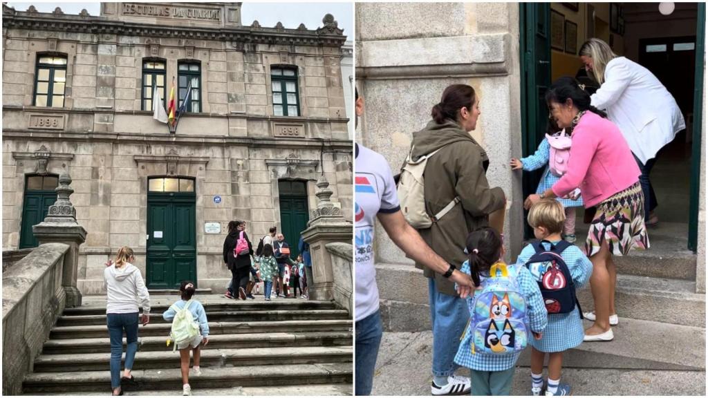
[[[191,349],[194,356],[194,374],[202,375],[199,367],[200,345],[209,343],[209,324],[207,323],[207,312],[202,303],[192,300],[195,293],[194,283],[185,280],[179,288],[182,298],[174,303],[162,314],[162,317],[172,322],[172,331],[167,344],[174,341],[175,347],[179,349],[180,363],[182,370],[182,395],[191,395],[192,387],[189,385],[189,351]],[[200,334],[201,329],[201,334]],[[174,349],[173,348],[173,349]]]

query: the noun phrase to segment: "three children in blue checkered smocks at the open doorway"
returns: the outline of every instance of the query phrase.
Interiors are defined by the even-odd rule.
[[[571,138],[550,120],[537,152],[511,159],[513,170],[546,166],[537,193],[546,191],[567,171]],[[467,237],[469,259],[462,272],[477,289],[467,297],[470,321],[455,363],[471,371],[472,395],[509,395],[520,353],[531,346],[531,394],[568,395],[561,383],[563,353],[583,342],[582,312],[576,289],[593,273],[593,263],[576,241],[575,192],[569,198],[542,199],[530,209],[528,222],[539,241],[527,245],[515,263],[505,264],[501,235],[493,228]],[[547,382],[543,380],[549,356]]]

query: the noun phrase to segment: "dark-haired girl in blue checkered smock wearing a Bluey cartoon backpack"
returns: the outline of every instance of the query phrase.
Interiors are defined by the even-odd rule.
[[[455,363],[469,368],[472,395],[509,395],[521,351],[531,334],[541,339],[546,329],[546,307],[529,271],[501,261],[504,249],[495,229],[469,234],[467,252],[460,271],[472,276],[476,290],[466,299],[469,324]]]

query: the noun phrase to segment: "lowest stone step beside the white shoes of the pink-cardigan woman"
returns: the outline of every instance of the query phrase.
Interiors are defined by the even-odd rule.
[[[706,296],[695,282],[646,276],[617,275],[615,309],[620,317],[705,327]],[[590,287],[578,290],[583,311],[593,309]]]

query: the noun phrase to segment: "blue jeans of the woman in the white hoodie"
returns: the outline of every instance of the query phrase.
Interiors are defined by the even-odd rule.
[[[125,368],[132,369],[137,352],[138,313],[107,314],[108,334],[110,336],[110,386],[120,387],[120,357],[123,353],[123,330],[125,330]]]

